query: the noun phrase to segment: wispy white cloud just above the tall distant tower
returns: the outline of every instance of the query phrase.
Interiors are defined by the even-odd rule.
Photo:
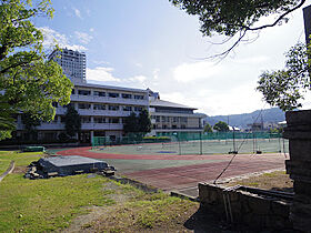
[[[52,49],[56,44],[60,48],[68,48],[72,50],[86,51],[87,48],[80,44],[70,43],[66,34],[62,34],[49,27],[39,28],[43,33],[43,47]]]

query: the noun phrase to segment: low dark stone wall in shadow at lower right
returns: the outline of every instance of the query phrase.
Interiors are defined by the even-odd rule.
[[[233,224],[243,224],[254,231],[292,229],[289,220],[290,201],[239,190],[223,191],[223,186],[199,183],[201,207]]]

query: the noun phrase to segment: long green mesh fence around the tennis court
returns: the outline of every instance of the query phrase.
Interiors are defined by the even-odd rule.
[[[223,154],[287,153],[288,141],[280,133],[217,132],[172,133],[143,136],[132,133],[122,139],[93,138],[93,150],[118,154]],[[121,145],[121,146],[112,146]]]

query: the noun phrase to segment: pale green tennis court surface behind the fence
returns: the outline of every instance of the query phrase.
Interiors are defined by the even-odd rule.
[[[162,143],[99,145],[93,152],[110,154],[227,154],[227,153],[288,153],[289,142],[277,139],[191,140]]]

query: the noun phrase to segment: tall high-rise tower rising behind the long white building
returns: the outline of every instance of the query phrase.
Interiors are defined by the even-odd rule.
[[[54,50],[49,59],[62,67],[63,73],[74,83],[86,82],[86,53],[69,49]]]

